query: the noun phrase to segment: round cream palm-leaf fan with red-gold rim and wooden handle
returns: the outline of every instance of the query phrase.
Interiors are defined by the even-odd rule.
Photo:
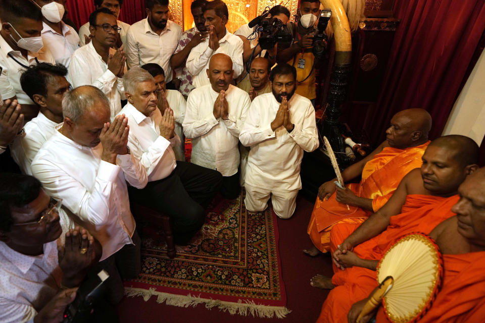
[[[443,259],[436,243],[422,233],[404,236],[390,247],[377,265],[379,288],[364,306],[360,318],[380,299],[393,323],[414,322],[431,306],[443,276]]]

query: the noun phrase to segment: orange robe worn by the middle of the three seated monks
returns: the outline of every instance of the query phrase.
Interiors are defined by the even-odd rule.
[[[385,250],[402,236],[412,232],[429,234],[437,225],[455,216],[451,207],[456,204],[458,199],[457,195],[441,198],[440,202],[392,217],[388,229],[358,245],[354,248],[354,252],[365,259],[380,260]],[[410,222],[406,226],[400,227],[396,224],[396,220],[393,221],[395,217],[407,218]],[[377,287],[377,274],[375,271],[366,268],[351,267],[345,271],[338,270],[332,276],[332,284],[336,287],[330,291],[325,299],[318,323],[347,322],[347,313],[352,305],[369,296]]]

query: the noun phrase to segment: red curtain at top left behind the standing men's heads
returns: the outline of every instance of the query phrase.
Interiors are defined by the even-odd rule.
[[[88,21],[89,14],[94,11],[94,2],[92,0],[71,0],[66,3],[66,9],[68,17],[79,28]],[[144,18],[146,18],[144,0],[125,0],[123,2],[119,20],[131,25]]]

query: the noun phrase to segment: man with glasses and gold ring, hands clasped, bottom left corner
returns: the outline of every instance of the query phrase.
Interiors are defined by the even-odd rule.
[[[0,174],[1,322],[61,322],[99,259],[99,245],[79,228],[66,233],[58,251],[60,207],[34,177]]]

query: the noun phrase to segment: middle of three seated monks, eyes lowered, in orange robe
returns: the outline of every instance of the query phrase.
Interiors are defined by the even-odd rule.
[[[319,278],[318,282],[326,288],[336,286],[328,294],[322,306],[319,322],[346,321],[346,313],[352,306],[352,300],[367,297],[375,287],[376,260],[380,260],[384,251],[401,236],[415,231],[429,234],[439,223],[455,215],[452,206],[458,201],[456,191],[461,183],[455,184],[455,187],[452,187],[453,185],[449,185],[449,183],[457,183],[457,178],[461,176],[464,179],[466,174],[470,174],[478,168],[476,166],[478,146],[473,140],[464,136],[446,136],[434,140],[430,147],[441,147],[441,149],[431,148],[429,151],[426,150],[423,155],[423,166],[427,170],[423,171],[424,175],[420,183],[419,181],[414,184],[408,183],[409,191],[415,193],[416,188],[413,188],[414,186],[424,187],[426,185],[425,189],[432,190],[433,193],[437,192],[435,194],[441,196],[438,196],[439,198],[434,203],[431,202],[391,217],[390,226],[381,234],[357,245],[353,251],[347,250],[345,254],[338,255],[343,267],[353,267],[336,272],[331,280],[323,276]],[[447,156],[447,158],[440,160],[438,157],[431,156],[428,152],[433,150],[435,150],[435,155]],[[445,151],[447,153],[444,153]],[[430,162],[434,165],[431,165],[431,169],[428,169]],[[440,169],[440,167],[443,168]],[[432,187],[428,184],[432,184]],[[446,187],[450,190],[448,194]],[[450,194],[452,195],[449,196]],[[446,197],[447,195],[449,197]],[[424,201],[426,196],[425,194],[409,194],[406,197],[406,204],[414,203],[413,200],[418,200],[417,203],[419,203],[419,201]],[[392,202],[390,199],[388,203]]]

